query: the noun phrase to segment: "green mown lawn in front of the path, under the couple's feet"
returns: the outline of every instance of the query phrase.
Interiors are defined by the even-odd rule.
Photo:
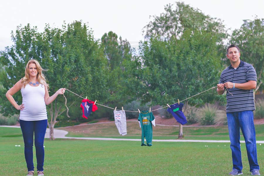
[[[20,128],[0,127],[1,176],[26,175],[23,138],[15,136],[19,134]],[[229,143],[153,142],[151,147],[140,144],[139,141],[45,139],[44,173],[47,176],[221,176],[228,175],[232,169]],[[241,144],[241,150],[243,175],[250,175],[244,143]],[[264,145],[258,145],[257,150],[262,167]],[[36,165],[35,156],[34,163]]]

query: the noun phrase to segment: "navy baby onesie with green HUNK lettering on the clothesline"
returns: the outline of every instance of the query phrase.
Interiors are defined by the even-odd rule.
[[[179,122],[182,125],[187,123],[186,117],[182,112],[183,105],[184,105],[183,103],[172,104],[167,109],[167,111],[172,114],[172,116],[177,120],[177,122]]]

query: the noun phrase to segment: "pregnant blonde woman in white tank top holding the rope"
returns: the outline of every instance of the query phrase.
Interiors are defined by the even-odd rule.
[[[43,69],[36,60],[29,60],[26,65],[25,76],[6,92],[10,103],[20,110],[20,127],[25,145],[25,159],[28,167],[27,176],[34,175],[33,164],[33,134],[35,134],[35,148],[38,176],[43,176],[44,165],[44,137],[47,129],[46,105],[52,103],[58,94],[64,94],[65,89],[57,90],[51,97],[48,93],[48,84],[42,73]],[[18,105],[13,94],[18,91],[22,94],[22,104]]]

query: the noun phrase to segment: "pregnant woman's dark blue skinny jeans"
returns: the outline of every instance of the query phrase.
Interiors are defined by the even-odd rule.
[[[35,148],[37,158],[37,170],[43,171],[44,165],[44,137],[48,120],[24,121],[20,120],[20,127],[25,144],[25,159],[28,171],[34,170],[33,164],[33,133],[35,134]]]

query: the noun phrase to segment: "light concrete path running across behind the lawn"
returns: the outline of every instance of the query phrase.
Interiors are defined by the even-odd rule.
[[[0,126],[0,127],[13,127],[20,128],[20,126]],[[101,141],[141,141],[141,139],[126,139],[126,138],[78,138],[78,137],[66,137],[68,131],[54,129],[55,138],[63,139],[83,139],[83,140],[101,140]],[[50,138],[50,129],[47,128],[45,138]],[[205,143],[230,143],[229,140],[185,140],[185,139],[153,139],[154,142],[205,142]],[[245,141],[240,141],[245,143]],[[257,144],[264,144],[264,141],[256,141]]]

